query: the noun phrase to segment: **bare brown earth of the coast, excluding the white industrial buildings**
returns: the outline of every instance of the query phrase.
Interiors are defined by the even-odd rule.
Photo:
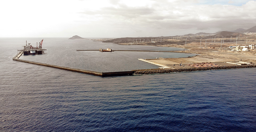
[[[238,34],[239,35],[239,34]],[[123,40],[125,39],[125,40]],[[256,50],[249,49],[249,51],[230,51],[229,46],[248,46],[254,44],[256,40],[255,35],[240,34],[239,39],[227,35],[226,37],[218,36],[180,36],[180,37],[166,37],[164,38],[120,38],[118,42],[125,41],[126,43],[117,43],[120,45],[153,45],[161,47],[179,47],[186,49],[185,51],[175,51],[180,53],[194,53],[198,54],[190,58],[164,58],[146,60],[166,65],[169,68],[193,68],[192,64],[211,62],[219,66],[232,66],[227,62],[250,62],[256,64]],[[132,40],[133,39],[133,40]],[[137,39],[137,40],[136,40]],[[143,41],[142,41],[143,40]],[[150,40],[150,41],[149,41]],[[151,42],[151,40],[156,40]],[[127,41],[130,43],[127,43]],[[136,43],[137,41],[137,43]],[[141,42],[142,41],[142,42]],[[149,42],[147,42],[149,41]],[[215,42],[214,42],[215,41]],[[224,41],[224,43],[223,43]],[[182,64],[179,66],[179,64]]]

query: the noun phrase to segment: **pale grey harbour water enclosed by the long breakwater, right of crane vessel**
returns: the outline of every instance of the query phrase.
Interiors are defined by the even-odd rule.
[[[55,44],[54,44],[55,43]],[[73,45],[73,43],[76,43]],[[99,51],[76,51],[76,49],[99,49],[110,47],[111,49],[141,49],[141,50],[182,50],[180,48],[153,47],[141,45],[116,45],[112,43],[101,43],[87,40],[63,40],[49,41],[44,39],[47,52],[38,56],[21,56],[22,60],[30,60],[60,66],[67,66],[97,72],[117,72],[131,71],[138,69],[155,69],[159,66],[147,64],[138,60],[138,58],[171,58],[171,57],[188,57],[194,54],[187,53],[166,53],[166,52],[99,52]],[[59,46],[55,46],[59,45]],[[79,60],[79,61],[77,61]]]

